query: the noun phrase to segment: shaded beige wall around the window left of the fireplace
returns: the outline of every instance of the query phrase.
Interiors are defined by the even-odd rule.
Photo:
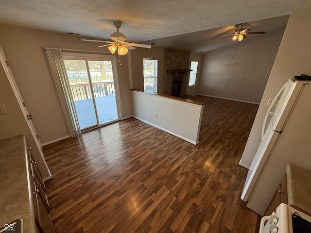
[[[152,47],[151,49],[136,48],[131,50],[133,88],[143,91],[143,59],[157,59],[158,86],[157,92],[163,94],[163,75],[164,75],[164,49]]]

